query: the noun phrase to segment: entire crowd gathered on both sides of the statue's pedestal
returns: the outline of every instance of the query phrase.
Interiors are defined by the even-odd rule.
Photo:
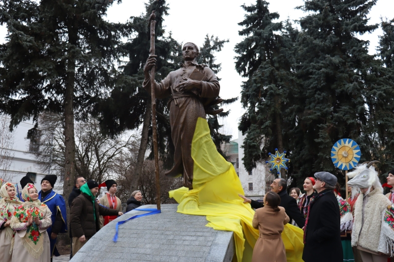
[[[260,237],[252,262],[286,262],[282,241],[284,225],[291,223],[303,230],[304,262],[390,262],[394,253],[394,190],[386,196],[373,164],[357,166],[347,176],[348,198],[342,198],[337,177],[318,172],[304,180],[304,193],[298,188],[287,191],[287,180],[277,178],[263,202],[239,195],[243,203],[255,208],[252,225]],[[2,262],[49,262],[58,256],[56,239],[66,233],[72,239],[70,258],[99,231],[123,215],[122,203],[115,196],[117,183],[102,184],[77,176],[69,197],[70,222],[66,203],[53,191],[56,175],[46,175],[37,192],[28,176],[21,179],[19,194],[13,183],[0,188],[0,259]],[[394,186],[394,170],[387,177]],[[100,187],[108,192],[100,199]],[[132,192],[125,211],[141,205],[141,191]],[[68,226],[68,227],[67,227]],[[302,233],[302,231],[301,231]]]

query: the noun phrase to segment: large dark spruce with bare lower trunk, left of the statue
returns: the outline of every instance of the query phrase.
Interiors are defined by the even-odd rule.
[[[42,112],[64,114],[64,194],[75,175],[74,118],[89,115],[91,103],[118,79],[114,60],[128,31],[106,21],[112,0],[4,0],[0,24],[8,29],[0,48],[0,110],[11,128]]]

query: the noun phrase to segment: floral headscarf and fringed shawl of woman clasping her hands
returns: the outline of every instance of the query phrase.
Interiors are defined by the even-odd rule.
[[[27,184],[22,190],[22,199],[25,201],[23,204],[18,206],[14,211],[14,216],[11,220],[11,227],[14,230],[26,230],[26,234],[22,238],[22,244],[29,252],[33,258],[38,259],[42,252],[44,251],[44,239],[42,233],[45,232],[43,230],[40,232],[39,225],[33,223],[27,228],[18,229],[21,223],[27,223],[30,216],[38,217],[42,220],[47,212],[51,213],[48,206],[46,204],[41,204],[39,200],[31,200],[29,197],[29,189],[35,188],[35,186],[31,183]]]

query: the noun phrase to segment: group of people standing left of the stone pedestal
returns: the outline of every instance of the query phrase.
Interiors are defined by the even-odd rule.
[[[100,228],[123,215],[122,203],[115,196],[117,183],[108,179],[102,184],[77,176],[68,197],[70,223],[66,220],[66,202],[53,191],[56,175],[46,175],[37,192],[34,182],[24,176],[19,185],[4,181],[0,188],[0,261],[52,262],[59,256],[56,239],[66,233],[72,239],[70,259]],[[99,187],[108,193],[96,199]],[[141,205],[140,191],[127,201],[127,211]]]

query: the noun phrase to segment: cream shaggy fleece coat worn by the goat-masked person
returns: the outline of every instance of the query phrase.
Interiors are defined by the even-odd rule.
[[[361,247],[378,253],[380,229],[382,226],[383,214],[388,205],[391,204],[380,188],[375,188],[369,192],[368,202],[363,208],[364,194],[360,194],[354,205],[354,223],[352,231],[352,246]],[[364,215],[362,215],[364,211]],[[362,224],[362,217],[364,223]]]

